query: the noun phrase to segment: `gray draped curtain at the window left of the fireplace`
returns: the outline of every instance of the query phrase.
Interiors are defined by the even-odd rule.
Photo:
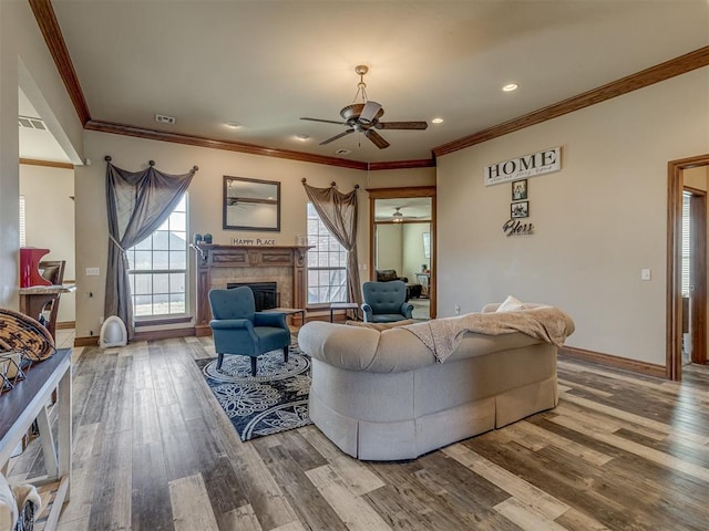
[[[109,157],[106,157],[109,158]],[[151,236],[179,202],[197,170],[168,175],[154,168],[126,171],[106,160],[106,204],[109,210],[109,263],[104,315],[117,315],[133,337],[133,305],[129,282],[126,249]]]

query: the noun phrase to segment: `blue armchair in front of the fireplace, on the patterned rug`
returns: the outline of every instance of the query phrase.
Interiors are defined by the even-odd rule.
[[[284,350],[284,363],[288,362],[290,329],[286,315],[277,312],[257,312],[254,292],[244,285],[232,290],[209,291],[212,308],[212,335],[218,355],[217,369],[222,368],[224,354],[251,357],[251,376],[256,376],[256,358],[276,348]]]

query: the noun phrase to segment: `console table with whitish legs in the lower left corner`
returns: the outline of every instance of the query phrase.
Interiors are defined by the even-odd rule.
[[[50,428],[47,405],[58,388],[59,433],[56,441]],[[69,501],[71,488],[71,348],[61,348],[43,362],[32,364],[27,378],[0,395],[0,468],[37,419],[47,465],[47,476],[32,478],[35,485],[59,481],[56,497],[44,529],[56,528],[59,514]]]

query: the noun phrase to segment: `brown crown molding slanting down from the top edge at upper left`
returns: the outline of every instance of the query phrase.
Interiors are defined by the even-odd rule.
[[[37,23],[42,32],[42,37],[44,37],[47,48],[52,54],[56,70],[64,82],[69,97],[74,104],[81,125],[86,125],[91,119],[89,105],[86,105],[86,98],[79,84],[79,77],[76,76],[74,64],[71,62],[69,49],[64,42],[64,37],[59,27],[52,3],[50,0],[29,0],[29,2],[34,13],[34,19],[37,19]]]

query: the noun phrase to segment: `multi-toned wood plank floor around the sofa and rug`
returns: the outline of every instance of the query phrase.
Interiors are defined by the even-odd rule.
[[[562,358],[556,409],[361,462],[314,426],[242,442],[194,363],[212,356],[208,337],[76,353],[60,530],[709,529],[709,367],[677,384]]]

